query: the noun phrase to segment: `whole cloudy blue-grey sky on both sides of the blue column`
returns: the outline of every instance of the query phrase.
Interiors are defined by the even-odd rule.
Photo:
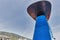
[[[35,20],[27,13],[27,7],[41,0],[0,0],[0,31],[33,38]],[[60,0],[48,0],[52,4],[48,21],[56,40],[60,38]]]

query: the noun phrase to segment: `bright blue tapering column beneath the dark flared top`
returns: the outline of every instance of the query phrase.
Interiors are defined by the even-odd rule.
[[[49,25],[44,15],[36,18],[33,40],[51,40]]]

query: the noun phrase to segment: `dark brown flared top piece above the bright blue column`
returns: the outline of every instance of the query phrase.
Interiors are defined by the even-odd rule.
[[[37,16],[45,15],[49,19],[51,14],[51,3],[49,1],[38,1],[27,8],[28,14],[36,20]]]

